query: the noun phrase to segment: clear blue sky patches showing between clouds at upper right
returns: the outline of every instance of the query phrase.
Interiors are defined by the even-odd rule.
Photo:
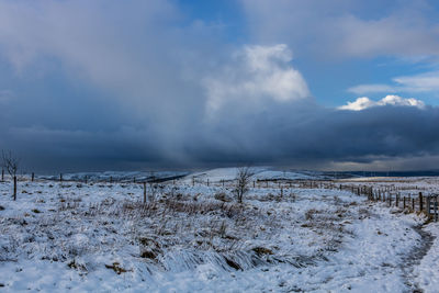
[[[252,4],[251,1],[248,2],[249,5]],[[299,7],[301,5],[300,1],[280,2],[286,3],[286,7],[295,7],[297,2]],[[337,3],[340,2],[342,1],[335,1],[334,7],[337,7]],[[439,4],[435,1],[352,2],[354,3],[350,5],[342,5],[341,3],[341,7],[347,7],[348,9],[347,11],[339,11],[339,15],[352,13],[364,21],[379,21],[407,9],[413,10],[412,12],[416,14],[421,13],[420,18],[423,21],[429,22],[427,27],[431,25],[430,29],[437,26],[437,19],[439,18]],[[246,21],[243,2],[182,0],[179,3],[191,20],[198,19],[211,24],[223,24],[227,42],[236,44],[252,42],[252,37],[249,35],[251,29],[248,27],[249,24]],[[258,5],[258,1],[255,2],[255,5]],[[272,5],[275,7],[277,1]],[[312,9],[314,8],[312,7]],[[403,18],[403,13],[401,14],[401,18]],[[275,18],[275,15],[272,16]],[[404,22],[405,20],[401,19],[401,21]],[[306,22],[303,22],[303,25],[306,25]],[[289,42],[288,34],[283,42]],[[293,46],[301,46],[301,44],[294,44]],[[434,57],[434,59],[431,60],[429,57]],[[424,56],[423,54],[401,56],[397,50],[394,54],[376,54],[365,57],[338,57],[335,59],[325,58],[324,60],[315,60],[315,58],[316,56],[304,53],[294,59],[293,64],[308,81],[315,98],[328,106],[336,106],[346,102],[346,100],[358,98],[358,94],[348,91],[351,87],[361,83],[392,83],[394,77],[424,74],[435,70],[438,66],[437,60],[435,60],[436,56]],[[412,58],[423,59],[415,61]],[[395,91],[395,93],[414,95],[404,91]],[[379,99],[382,98],[382,94],[371,92],[369,95]],[[436,91],[420,92],[415,95],[429,104],[438,104],[439,97]]]

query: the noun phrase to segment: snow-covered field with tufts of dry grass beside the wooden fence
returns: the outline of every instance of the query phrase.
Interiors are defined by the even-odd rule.
[[[16,202],[0,182],[0,292],[437,292],[437,223],[295,181],[250,184],[238,204],[235,177],[225,168],[148,185],[146,204],[133,182],[25,180]],[[439,189],[436,178],[340,182]]]

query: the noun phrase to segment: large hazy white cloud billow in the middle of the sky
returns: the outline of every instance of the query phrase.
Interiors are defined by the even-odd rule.
[[[227,102],[288,102],[308,98],[301,72],[291,66],[286,45],[245,46],[219,74],[203,80],[210,114]]]

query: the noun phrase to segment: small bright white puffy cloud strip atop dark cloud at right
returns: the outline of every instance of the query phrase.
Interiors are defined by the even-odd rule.
[[[367,97],[358,98],[353,102],[348,102],[348,104],[339,106],[339,110],[350,110],[350,111],[361,111],[372,106],[383,106],[383,105],[404,105],[404,106],[416,106],[419,109],[425,108],[425,104],[420,100],[413,98],[404,99],[398,95],[389,94],[379,101],[372,101]]]

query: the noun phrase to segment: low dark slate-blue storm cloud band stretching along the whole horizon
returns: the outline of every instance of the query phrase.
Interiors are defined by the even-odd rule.
[[[151,133],[130,128],[115,133],[12,128],[2,136],[37,165],[74,169],[237,162],[309,166],[439,155],[437,108],[382,106],[353,112],[297,111],[295,106],[273,108],[258,115],[225,115],[225,121],[232,122],[188,132],[175,154],[164,151],[168,147],[155,142]]]

